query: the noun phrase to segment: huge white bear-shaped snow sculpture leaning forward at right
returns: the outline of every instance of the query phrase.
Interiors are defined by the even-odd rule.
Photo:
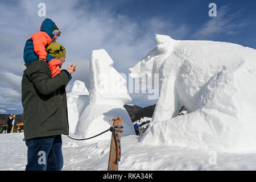
[[[238,44],[174,40],[130,68],[134,78],[159,74],[159,97],[143,144],[256,150],[256,50]],[[177,116],[180,106],[188,114]]]

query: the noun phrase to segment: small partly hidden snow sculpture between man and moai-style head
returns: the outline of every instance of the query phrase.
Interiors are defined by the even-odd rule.
[[[71,92],[67,93],[69,133],[75,133],[79,115],[88,104],[89,92],[84,82],[76,80]]]

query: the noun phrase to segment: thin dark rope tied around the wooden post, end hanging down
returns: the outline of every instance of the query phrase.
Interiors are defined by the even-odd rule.
[[[98,136],[106,133],[107,131],[111,131],[111,132],[114,131],[115,137],[117,138],[116,141],[117,141],[117,146],[118,146],[118,148],[117,148],[118,158],[117,158],[117,160],[115,160],[115,163],[118,163],[118,162],[120,162],[120,159],[121,159],[121,144],[120,144],[120,139],[118,137],[118,133],[122,133],[123,132],[122,128],[123,128],[123,126],[111,126],[108,130],[102,131],[100,134],[97,134],[97,135],[95,135],[93,137],[90,137],[90,138],[77,139],[77,138],[69,137],[69,135],[67,135],[67,137],[71,138],[73,140],[88,140],[88,139],[92,139],[92,138],[98,137]],[[120,130],[118,130],[118,129],[120,129]]]

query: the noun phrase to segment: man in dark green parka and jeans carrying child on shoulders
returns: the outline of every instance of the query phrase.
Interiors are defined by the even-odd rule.
[[[59,60],[64,63],[65,55]],[[54,77],[47,61],[37,60],[25,65],[22,105],[28,148],[26,170],[61,170],[61,134],[69,134],[65,86],[72,78],[71,73],[76,71],[76,65],[69,65]]]

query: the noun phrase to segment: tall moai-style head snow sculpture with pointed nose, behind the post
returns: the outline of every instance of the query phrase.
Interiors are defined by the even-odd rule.
[[[90,57],[90,100],[76,126],[76,135],[92,137],[113,125],[110,119],[123,118],[122,136],[135,135],[133,123],[123,107],[131,102],[126,80],[113,68],[113,60],[104,49],[92,52]],[[110,139],[105,133],[95,140]]]

